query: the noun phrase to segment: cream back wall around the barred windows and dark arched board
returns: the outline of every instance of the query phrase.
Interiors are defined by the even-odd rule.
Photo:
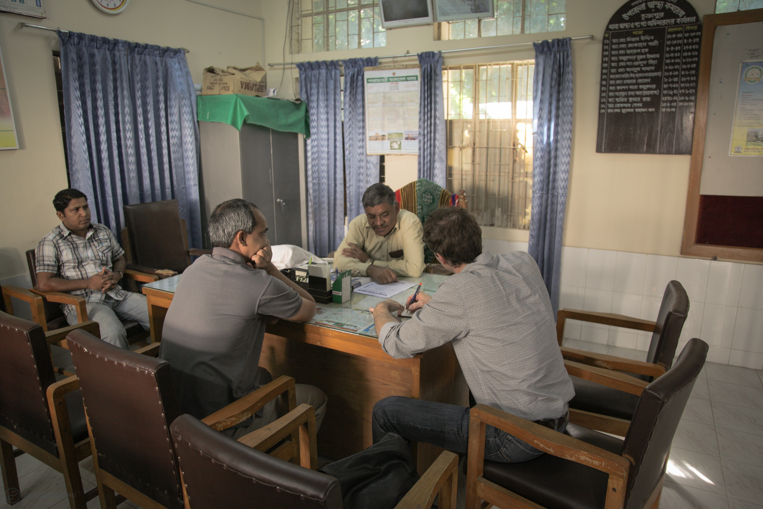
[[[287,0],[269,2],[264,9],[268,24],[266,60],[270,63],[301,60],[335,60],[356,56],[384,56],[449,50],[464,47],[525,42],[548,37],[593,34],[594,40],[572,43],[575,74],[575,118],[565,246],[631,251],[678,256],[684,226],[689,156],[596,153],[598,92],[600,86],[601,36],[609,18],[623,0],[576,0],[567,3],[567,30],[551,34],[489,37],[482,40],[433,40],[433,29],[424,25],[387,32],[387,47],[283,55]],[[700,17],[713,12],[714,0],[692,0]],[[273,22],[275,21],[275,22]],[[271,42],[272,41],[272,42]],[[532,47],[446,53],[445,65],[523,60],[533,58]],[[290,60],[293,59],[293,60]],[[415,62],[415,56],[398,59]],[[383,63],[390,63],[385,60]],[[269,68],[269,86],[276,86],[281,72]],[[287,68],[278,95],[292,97],[291,82],[297,71]],[[388,172],[406,172],[388,166]],[[485,229],[486,238],[527,240],[527,232],[502,228]]]

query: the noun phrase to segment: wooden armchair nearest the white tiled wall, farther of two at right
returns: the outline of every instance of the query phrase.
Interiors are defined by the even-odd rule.
[[[623,372],[626,373],[623,376],[648,383],[671,367],[688,312],[689,298],[684,287],[678,281],[671,281],[665,288],[655,321],[626,317],[621,314],[562,309],[559,310],[556,321],[557,340],[566,361],[578,362],[610,372]],[[645,362],[561,346],[567,319],[652,332],[652,342],[649,344]],[[573,375],[572,383],[575,385],[575,398],[572,398],[569,403],[570,422],[621,437],[625,436],[629,420],[636,409],[637,395],[626,394],[627,391],[617,390],[612,385],[600,385],[591,382],[590,379],[570,374]]]

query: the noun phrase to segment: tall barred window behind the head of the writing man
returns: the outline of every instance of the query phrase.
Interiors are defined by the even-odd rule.
[[[530,228],[533,60],[443,69],[447,185],[482,226]]]

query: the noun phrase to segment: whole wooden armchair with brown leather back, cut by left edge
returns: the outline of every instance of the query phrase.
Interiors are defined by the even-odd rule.
[[[92,321],[66,327],[79,328],[98,333]],[[95,488],[85,493],[79,472],[79,462],[90,456],[79,384],[75,376],[56,382],[53,372],[50,342],[63,339],[61,333],[0,312],[0,453],[8,504],[21,500],[15,459],[24,453],[63,474],[72,509],[85,509],[98,493]]]

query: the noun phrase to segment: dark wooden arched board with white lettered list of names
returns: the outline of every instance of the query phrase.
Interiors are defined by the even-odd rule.
[[[700,37],[686,0],[631,0],[610,18],[597,152],[691,153]]]

